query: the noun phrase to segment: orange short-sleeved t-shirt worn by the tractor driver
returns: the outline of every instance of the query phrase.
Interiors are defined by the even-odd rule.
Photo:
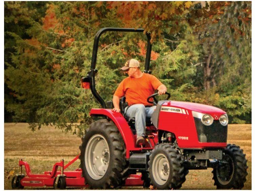
[[[153,75],[143,73],[140,78],[127,77],[118,85],[114,96],[119,98],[125,96],[128,105],[143,104],[152,105],[147,102],[147,98],[162,83]],[[152,101],[152,100],[151,100]]]

